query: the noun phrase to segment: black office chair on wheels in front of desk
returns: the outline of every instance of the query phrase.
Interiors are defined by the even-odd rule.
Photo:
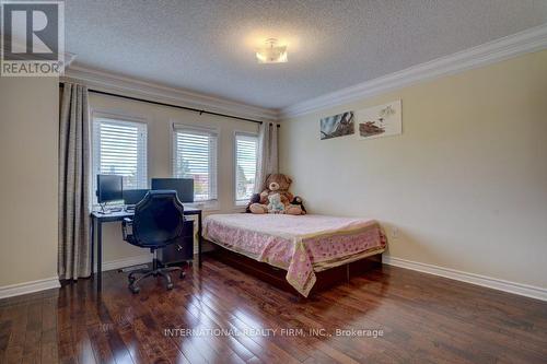
[[[170,244],[181,242],[183,237],[184,207],[174,190],[151,190],[135,207],[135,216],[126,218],[121,224],[124,240],[141,248],[149,248],[154,254],[152,269],[139,269],[129,273],[129,290],[138,293],[137,285],[142,279],[161,275],[167,281],[167,290],[173,289],[170,272],[184,271],[179,267],[162,267],[158,261],[156,250]],[[135,274],[143,274],[139,279]]]

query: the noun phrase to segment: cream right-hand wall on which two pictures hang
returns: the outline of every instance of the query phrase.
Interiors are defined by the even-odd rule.
[[[319,140],[319,118],[399,98],[401,136]],[[547,51],[280,130],[281,169],[312,212],[379,219],[393,257],[547,287]]]

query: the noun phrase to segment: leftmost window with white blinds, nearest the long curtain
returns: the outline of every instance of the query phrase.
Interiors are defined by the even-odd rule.
[[[97,174],[124,176],[124,189],[148,187],[147,125],[144,122],[94,118],[94,191]]]

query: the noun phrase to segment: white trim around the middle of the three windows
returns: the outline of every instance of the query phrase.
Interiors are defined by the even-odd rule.
[[[216,173],[216,186],[217,186],[217,199],[207,200],[207,201],[195,201],[191,206],[199,208],[203,211],[219,211],[220,210],[220,185],[219,185],[219,175],[220,175],[220,144],[221,144],[221,128],[220,127],[205,127],[205,126],[196,126],[193,124],[184,124],[178,120],[171,120],[171,176],[175,177],[175,161],[176,161],[176,131],[178,129],[189,129],[201,132],[214,132],[217,134],[217,173]]]

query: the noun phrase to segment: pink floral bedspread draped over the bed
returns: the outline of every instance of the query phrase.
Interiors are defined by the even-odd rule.
[[[316,281],[315,263],[381,253],[386,246],[374,220],[313,214],[213,214],[205,219],[203,237],[287,270],[287,281],[306,297]]]

